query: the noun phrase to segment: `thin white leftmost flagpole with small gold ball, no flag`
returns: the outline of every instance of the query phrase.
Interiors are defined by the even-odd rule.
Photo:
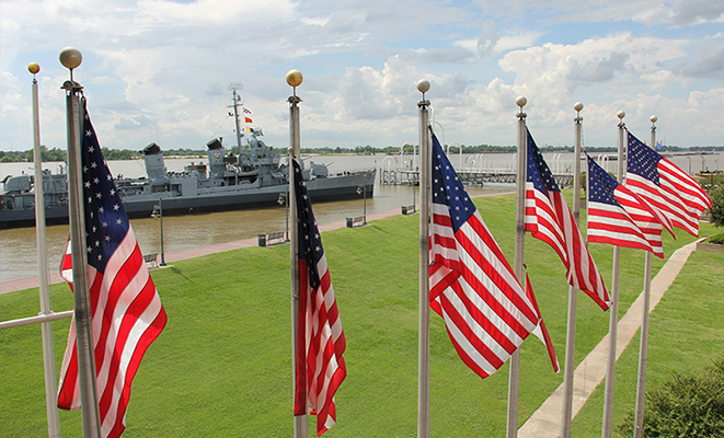
[[[41,314],[48,315],[50,310],[50,291],[48,281],[48,261],[45,238],[45,196],[43,194],[43,154],[41,150],[41,117],[37,97],[37,80],[35,74],[41,66],[31,62],[27,70],[33,73],[33,150],[35,161],[35,238],[37,241],[37,272],[41,293]],[[55,349],[53,348],[53,324],[41,323],[43,334],[43,366],[45,368],[45,407],[48,420],[48,437],[60,437],[60,420],[56,396],[58,383],[55,373]]]

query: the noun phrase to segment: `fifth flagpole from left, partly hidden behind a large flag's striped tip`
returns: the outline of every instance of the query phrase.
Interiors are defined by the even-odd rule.
[[[526,113],[522,107],[528,100],[518,96],[516,104],[520,107],[518,117],[518,174],[516,183],[516,243],[514,274],[524,284],[524,241],[526,237],[526,169],[528,166],[528,129],[526,129]],[[508,379],[508,422],[507,438],[518,436],[518,395],[520,390],[520,349],[510,356],[510,373]]]

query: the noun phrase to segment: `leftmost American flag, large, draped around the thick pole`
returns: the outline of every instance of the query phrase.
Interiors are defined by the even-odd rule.
[[[165,326],[166,314],[88,113],[81,149],[101,435],[119,437],[126,428],[126,407],[134,377],[146,349]],[[70,240],[61,258],[60,274],[72,288]],[[58,407],[80,407],[74,316],[60,370]]]

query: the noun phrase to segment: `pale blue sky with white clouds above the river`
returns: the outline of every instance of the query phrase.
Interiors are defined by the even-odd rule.
[[[635,136],[724,145],[724,0],[0,0],[0,150],[33,147],[30,62],[41,141],[66,148],[69,72],[101,145],[140,150],[235,145],[230,84],[253,126],[289,146],[303,74],[302,148],[418,142],[416,90],[430,82],[447,143],[515,145],[524,95],[539,146],[616,146],[617,113]]]

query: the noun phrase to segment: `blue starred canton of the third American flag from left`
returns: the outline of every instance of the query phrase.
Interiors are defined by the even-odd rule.
[[[437,137],[433,135],[433,203],[450,209],[452,231],[457,232],[475,212],[468,192],[458,178]]]

